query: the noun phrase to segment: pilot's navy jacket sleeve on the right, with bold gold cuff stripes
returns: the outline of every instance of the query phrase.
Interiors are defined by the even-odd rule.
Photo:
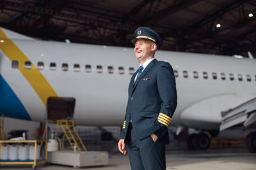
[[[168,62],[163,62],[157,74],[157,90],[162,101],[160,113],[157,118],[160,129],[155,132],[156,136],[159,136],[166,131],[177,106],[175,76],[172,66]]]

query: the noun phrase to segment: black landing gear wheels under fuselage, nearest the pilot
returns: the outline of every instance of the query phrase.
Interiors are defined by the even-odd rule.
[[[211,139],[204,133],[191,134],[188,137],[188,148],[197,150],[207,150],[211,145]]]

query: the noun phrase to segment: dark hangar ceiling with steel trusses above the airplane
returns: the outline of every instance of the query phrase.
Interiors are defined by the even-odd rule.
[[[134,30],[148,26],[163,50],[246,57],[256,57],[255,17],[256,0],[0,1],[1,27],[40,39],[133,46]]]

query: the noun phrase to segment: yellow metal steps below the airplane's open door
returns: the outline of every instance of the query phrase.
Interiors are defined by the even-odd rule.
[[[73,120],[57,120],[55,138],[58,135],[59,129],[61,129],[64,133],[62,138],[63,147],[65,143],[65,138],[68,139],[68,143],[70,144],[70,146],[68,146],[67,148],[63,148],[63,150],[74,150],[74,146],[76,145],[77,151],[86,151],[83,141],[81,140],[79,134],[76,131]]]

